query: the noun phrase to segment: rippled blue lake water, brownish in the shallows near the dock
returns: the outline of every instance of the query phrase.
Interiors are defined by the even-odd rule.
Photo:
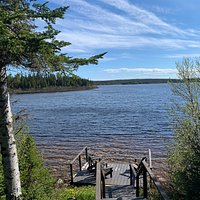
[[[13,95],[46,164],[60,168],[84,147],[107,159],[166,156],[172,138],[167,84],[99,86],[87,91]]]

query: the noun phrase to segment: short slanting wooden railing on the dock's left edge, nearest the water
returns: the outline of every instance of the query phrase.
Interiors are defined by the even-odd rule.
[[[80,153],[69,163],[70,176],[71,176],[70,184],[73,184],[73,182],[74,182],[74,172],[73,172],[74,163],[75,163],[76,160],[78,160],[78,167],[79,167],[79,170],[81,171],[82,170],[82,158],[83,158],[83,156],[85,157],[85,163],[89,162],[89,160],[91,159],[88,156],[88,148],[87,147],[84,147],[80,151]]]

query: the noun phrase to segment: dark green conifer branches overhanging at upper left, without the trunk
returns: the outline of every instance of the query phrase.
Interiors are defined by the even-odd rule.
[[[53,25],[63,19],[68,7],[50,9],[48,2],[0,0],[0,66],[20,66],[71,73],[80,65],[97,64],[105,53],[90,58],[73,58],[62,53],[70,45],[56,36]],[[36,24],[44,24],[37,26]]]

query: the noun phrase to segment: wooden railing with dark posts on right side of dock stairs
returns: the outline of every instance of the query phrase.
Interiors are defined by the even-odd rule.
[[[136,197],[139,197],[139,193],[140,193],[140,176],[142,175],[142,179],[143,179],[143,198],[148,198],[148,177],[147,175],[149,175],[150,180],[152,181],[153,184],[155,185],[157,191],[159,192],[160,196],[162,197],[162,199],[164,200],[169,200],[169,197],[167,196],[167,194],[165,193],[163,187],[161,186],[160,182],[157,180],[156,176],[153,174],[152,170],[150,169],[150,167],[148,166],[147,162],[146,162],[146,157],[144,157],[138,168],[136,169],[134,166],[130,165],[130,173],[131,173],[131,184],[136,184]],[[133,180],[135,177],[136,179],[136,183],[135,180]]]

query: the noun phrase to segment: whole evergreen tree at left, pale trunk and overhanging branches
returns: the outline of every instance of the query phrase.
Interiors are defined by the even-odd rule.
[[[69,42],[58,41],[53,25],[68,7],[50,9],[36,0],[0,0],[0,144],[7,199],[19,199],[20,174],[12,113],[7,88],[7,67],[71,74],[80,65],[97,64],[104,54],[88,59],[72,58],[61,52]],[[46,26],[36,23],[44,21]]]

